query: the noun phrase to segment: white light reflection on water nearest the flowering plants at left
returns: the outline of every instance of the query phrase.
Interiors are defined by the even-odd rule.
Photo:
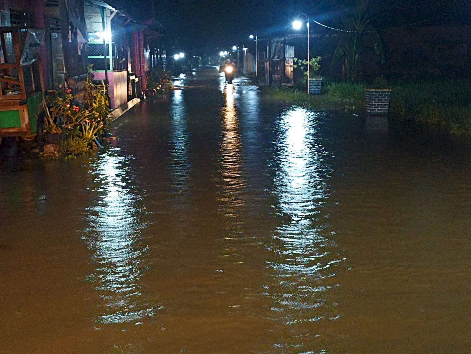
[[[83,231],[96,266],[88,280],[103,301],[95,321],[108,324],[141,321],[158,308],[145,302],[139,285],[148,251],[141,236],[145,209],[139,206],[127,158],[115,150],[100,156],[94,166],[97,198],[86,212],[89,228]]]

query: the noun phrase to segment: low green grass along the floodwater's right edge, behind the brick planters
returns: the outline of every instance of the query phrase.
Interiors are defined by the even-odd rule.
[[[390,114],[447,125],[453,133],[471,135],[471,82],[428,80],[392,85]],[[365,85],[323,83],[321,95],[287,88],[263,87],[269,99],[318,110],[365,113]]]

